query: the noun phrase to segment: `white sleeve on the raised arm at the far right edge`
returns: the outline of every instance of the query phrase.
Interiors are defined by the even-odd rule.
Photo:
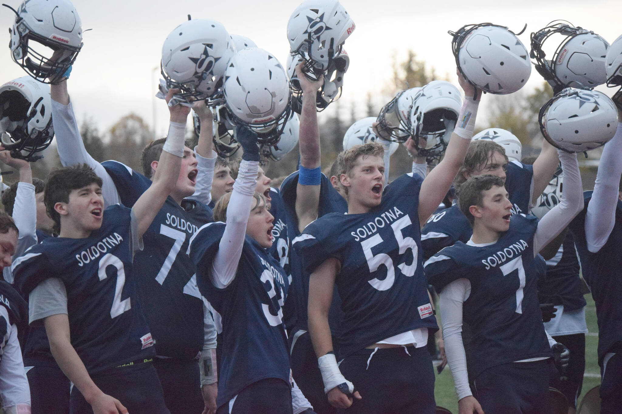
[[[585,214],[585,239],[587,248],[592,253],[596,253],[605,245],[616,221],[616,205],[622,175],[620,154],[622,154],[622,123],[618,124],[616,135],[603,148],[592,200]],[[564,172],[564,181],[565,179]]]

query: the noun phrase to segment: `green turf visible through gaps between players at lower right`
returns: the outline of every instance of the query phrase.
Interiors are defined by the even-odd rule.
[[[587,307],[585,307],[585,320],[587,328],[590,331],[585,337],[585,377],[583,377],[583,389],[579,397],[579,403],[583,395],[592,387],[600,384],[600,367],[598,367],[598,356],[596,355],[596,346],[598,346],[598,325],[596,325],[596,307],[592,300],[592,295],[585,295]],[[449,367],[445,367],[443,372],[436,377],[434,389],[437,405],[448,408],[452,413],[458,413],[458,402],[456,393],[453,389],[452,372]]]

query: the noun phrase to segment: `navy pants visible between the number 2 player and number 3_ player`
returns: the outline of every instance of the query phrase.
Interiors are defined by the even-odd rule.
[[[198,361],[154,358],[154,367],[162,384],[164,402],[170,414],[201,414],[203,412],[205,403],[201,394]]]

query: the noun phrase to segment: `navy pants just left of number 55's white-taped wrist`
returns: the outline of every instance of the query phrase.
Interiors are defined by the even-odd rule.
[[[317,414],[337,413],[337,408],[330,405],[326,394],[324,394],[322,372],[320,372],[317,356],[313,351],[311,335],[309,332],[300,336],[296,336],[296,334],[297,332],[292,336],[292,341],[295,342],[294,348],[292,348],[292,358],[290,358],[292,376],[294,376],[296,384]]]

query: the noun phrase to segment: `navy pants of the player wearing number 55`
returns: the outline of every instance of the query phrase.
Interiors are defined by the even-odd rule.
[[[434,414],[434,367],[427,346],[361,349],[341,361],[339,369],[361,400],[344,414]]]

